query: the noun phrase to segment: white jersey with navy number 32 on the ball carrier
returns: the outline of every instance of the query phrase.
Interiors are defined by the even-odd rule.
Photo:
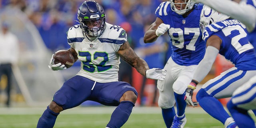
[[[67,38],[81,61],[77,75],[101,83],[118,81],[120,56],[116,52],[127,41],[123,28],[106,23],[102,35],[90,41],[83,35],[80,25],[75,25],[68,30]]]

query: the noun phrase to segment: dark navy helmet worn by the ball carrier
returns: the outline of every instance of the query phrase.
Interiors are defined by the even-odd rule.
[[[77,12],[80,28],[90,37],[102,35],[106,28],[106,14],[103,7],[93,0],[83,2]]]

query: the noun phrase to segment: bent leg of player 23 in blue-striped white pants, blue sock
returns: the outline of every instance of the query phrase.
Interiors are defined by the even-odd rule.
[[[202,86],[196,95],[196,100],[208,114],[222,122],[225,128],[236,126],[234,119],[217,99],[231,97],[234,90],[248,81],[253,74],[255,72],[237,70],[236,67],[222,72],[220,76]]]

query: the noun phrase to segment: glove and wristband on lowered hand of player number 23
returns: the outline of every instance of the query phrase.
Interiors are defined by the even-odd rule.
[[[195,106],[198,106],[198,102],[192,101],[193,91],[196,89],[196,87],[193,86],[193,84],[194,83],[190,83],[190,85],[188,85],[188,88],[186,89],[186,96],[185,96],[184,100],[187,102],[188,105],[192,105],[193,107],[195,107]]]

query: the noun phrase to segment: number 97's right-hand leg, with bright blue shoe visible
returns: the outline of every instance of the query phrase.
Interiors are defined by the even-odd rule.
[[[172,86],[176,100],[177,114],[173,120],[171,128],[183,128],[186,124],[185,108],[187,104],[184,97],[186,94],[186,88],[192,80],[194,70],[197,65],[178,67],[180,68],[180,73]]]

